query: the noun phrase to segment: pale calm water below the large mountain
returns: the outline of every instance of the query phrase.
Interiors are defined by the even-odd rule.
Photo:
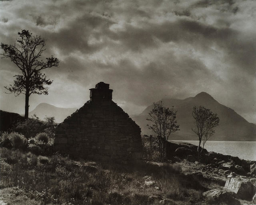
[[[172,140],[182,141],[198,145],[196,140]],[[244,160],[256,161],[256,141],[208,141],[204,145],[208,152],[213,151],[221,154],[239,157]]]

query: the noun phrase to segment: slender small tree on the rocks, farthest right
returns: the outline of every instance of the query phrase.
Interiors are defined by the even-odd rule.
[[[192,128],[192,130],[198,135],[199,144],[197,151],[200,155],[204,149],[205,143],[214,134],[215,131],[213,128],[218,126],[220,118],[218,118],[217,113],[212,113],[210,109],[207,109],[204,106],[194,106],[192,116],[196,126],[196,128]],[[203,142],[202,149],[200,149],[201,142]]]

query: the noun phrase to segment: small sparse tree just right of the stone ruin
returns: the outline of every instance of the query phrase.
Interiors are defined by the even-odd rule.
[[[149,118],[146,120],[152,122],[152,125],[147,126],[158,136],[160,160],[166,156],[166,144],[170,134],[179,130],[176,113],[174,108],[164,107],[162,101],[160,104],[154,103],[152,110],[148,113]]]

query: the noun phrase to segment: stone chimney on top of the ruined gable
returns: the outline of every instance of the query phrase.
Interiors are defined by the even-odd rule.
[[[104,82],[97,83],[95,88],[90,89],[90,101],[112,101],[112,92],[113,90],[109,89],[109,84]]]

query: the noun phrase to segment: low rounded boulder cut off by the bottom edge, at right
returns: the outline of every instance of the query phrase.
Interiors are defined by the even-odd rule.
[[[212,189],[203,193],[203,196],[206,198],[210,204],[232,204],[240,205],[240,201],[234,198],[234,193],[225,189]]]

